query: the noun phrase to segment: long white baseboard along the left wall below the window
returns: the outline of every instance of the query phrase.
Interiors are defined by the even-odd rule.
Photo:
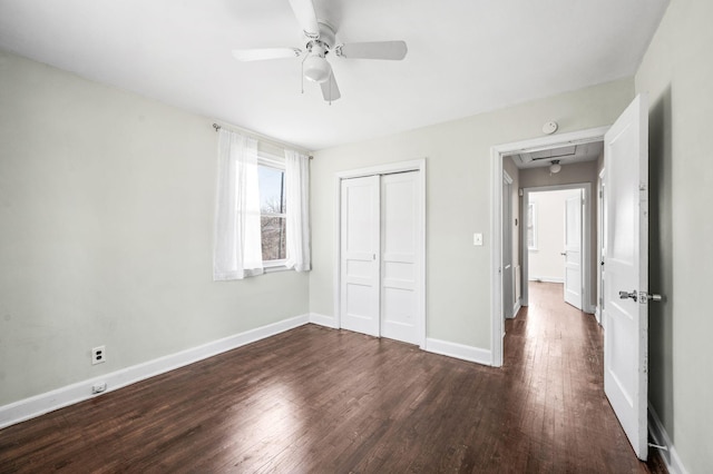
[[[283,319],[281,322],[235,334],[223,339],[213,340],[202,346],[192,347],[176,354],[159,357],[154,361],[148,361],[143,364],[104,374],[99,377],[67,385],[30,398],[13,402],[9,405],[0,406],[0,428],[101,395],[91,394],[91,386],[94,384],[106,383],[107,388],[104,393],[113,392],[136,382],[184,367],[246,344],[284,333],[285,330],[294,329],[295,327],[307,324],[309,322],[310,315]]]

